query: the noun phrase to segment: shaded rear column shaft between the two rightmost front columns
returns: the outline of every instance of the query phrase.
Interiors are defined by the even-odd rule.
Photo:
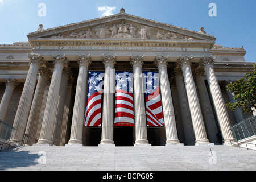
[[[201,101],[201,108],[203,111],[204,121],[205,121],[205,127],[208,133],[208,137],[210,142],[213,143],[219,143],[217,134],[217,126],[214,119],[214,114],[212,110],[212,106],[210,104],[210,99],[208,96],[207,88],[205,86],[204,82],[204,72],[197,71],[196,72],[196,84],[199,91],[199,97]]]

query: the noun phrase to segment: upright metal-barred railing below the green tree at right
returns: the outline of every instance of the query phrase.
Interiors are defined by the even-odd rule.
[[[256,135],[256,117],[247,118],[230,127],[230,130],[237,141]]]

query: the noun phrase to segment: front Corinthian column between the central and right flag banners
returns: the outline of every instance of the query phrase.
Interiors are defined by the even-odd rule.
[[[148,144],[146,108],[144,101],[144,89],[142,78],[143,56],[131,56],[134,75],[134,120],[135,120],[135,144]]]

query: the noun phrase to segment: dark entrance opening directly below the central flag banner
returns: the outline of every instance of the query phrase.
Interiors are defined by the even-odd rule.
[[[114,127],[115,146],[134,146],[133,130],[134,127]]]

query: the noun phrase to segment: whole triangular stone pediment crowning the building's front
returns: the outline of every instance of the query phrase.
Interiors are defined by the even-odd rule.
[[[28,39],[147,39],[147,40],[208,40],[214,36],[155,22],[138,16],[119,14],[68,24],[28,35]]]

